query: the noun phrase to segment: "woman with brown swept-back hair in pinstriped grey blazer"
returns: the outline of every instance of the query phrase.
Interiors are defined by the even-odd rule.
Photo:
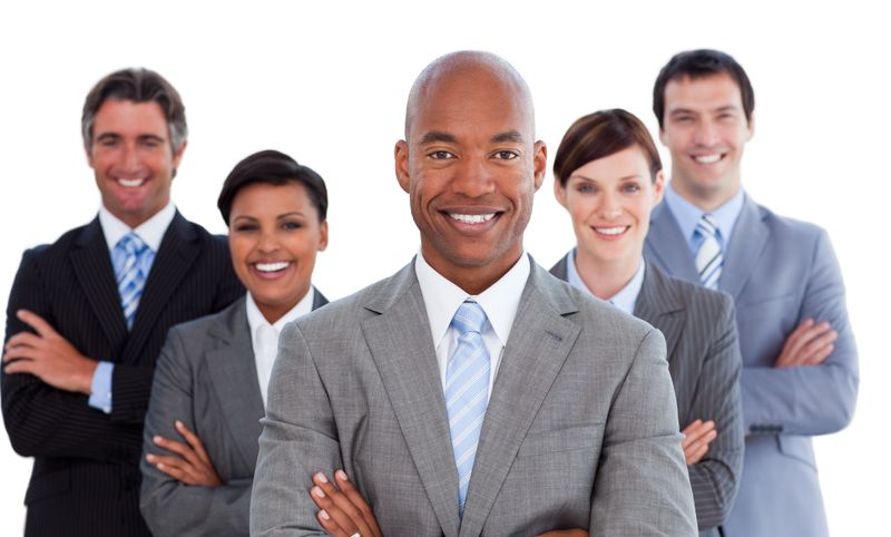
[[[557,149],[554,179],[577,246],[550,272],[665,335],[699,531],[719,535],[743,462],[733,300],[645,262],[649,215],[665,178],[637,117],[613,109],[578,119]]]

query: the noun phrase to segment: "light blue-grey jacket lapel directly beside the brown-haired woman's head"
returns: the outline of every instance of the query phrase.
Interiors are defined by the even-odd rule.
[[[645,253],[655,257],[669,274],[689,282],[699,282],[687,240],[665,203],[659,204],[650,214]]]

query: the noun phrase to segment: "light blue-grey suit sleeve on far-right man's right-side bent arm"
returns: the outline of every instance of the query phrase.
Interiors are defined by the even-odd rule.
[[[859,383],[856,345],[839,262],[822,230],[811,267],[799,322],[828,321],[839,332],[835,349],[820,365],[745,368],[742,393],[747,432],[826,435],[843,429],[853,417]]]

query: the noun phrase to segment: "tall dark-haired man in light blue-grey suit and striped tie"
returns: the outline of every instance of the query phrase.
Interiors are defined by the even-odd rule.
[[[734,296],[746,432],[731,537],[828,535],[811,437],[854,411],[858,359],[844,285],[826,233],[757,205],[741,188],[754,92],[714,50],[663,68],[654,111],[672,183],[645,255],[675,276]]]

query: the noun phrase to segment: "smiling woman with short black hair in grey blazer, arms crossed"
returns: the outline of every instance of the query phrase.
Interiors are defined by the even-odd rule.
[[[311,283],[327,245],[319,174],[260,152],[235,166],[217,205],[247,294],[174,326],[158,359],[140,462],[140,508],[156,536],[248,535],[278,332],[327,302]]]

